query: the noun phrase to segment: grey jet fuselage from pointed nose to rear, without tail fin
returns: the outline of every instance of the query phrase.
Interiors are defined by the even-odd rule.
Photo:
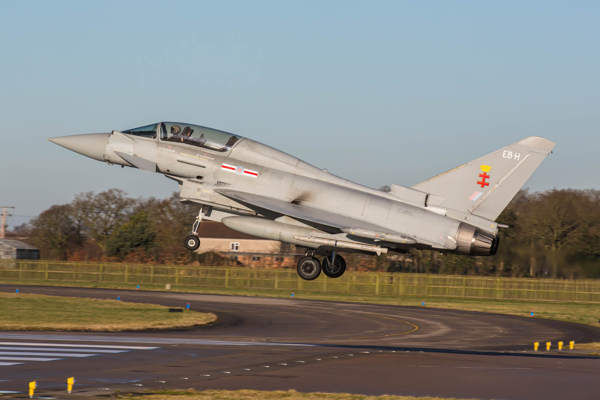
[[[174,131],[176,134],[173,134]],[[196,132],[192,133],[196,138],[182,136],[181,132],[185,131]],[[200,132],[203,133],[200,135]],[[124,133],[113,131],[91,135],[95,135],[93,140],[91,136],[86,139],[90,143],[101,143],[103,136],[98,135],[106,135],[103,150],[96,149],[93,153],[87,150],[86,154],[52,140],[109,164],[136,166],[178,181],[183,201],[203,205],[203,219],[221,221],[230,216],[277,218],[277,215],[261,213],[217,192],[218,189],[232,189],[305,205],[357,223],[376,225],[387,232],[406,235],[417,242],[413,247],[424,249],[472,253],[465,247],[469,246],[467,242],[472,237],[460,243],[461,232],[464,239],[466,226],[485,231],[491,237],[497,234],[494,221],[464,211],[447,210],[436,204],[436,196],[430,198],[428,193],[398,185],[394,185],[392,192],[362,186],[268,145],[222,131],[190,124],[159,123]],[[84,148],[81,145],[80,149]],[[428,198],[431,200],[429,204]],[[306,230],[306,225],[294,220],[278,220],[278,223],[295,225],[293,232]],[[252,234],[259,235],[256,230]],[[262,236],[275,236],[277,240],[303,247],[319,247],[319,244],[296,240],[296,234]],[[361,241],[398,251],[406,251],[410,247],[365,238]]]

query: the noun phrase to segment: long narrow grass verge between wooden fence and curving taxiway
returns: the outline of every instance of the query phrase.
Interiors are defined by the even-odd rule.
[[[83,288],[135,289],[134,283],[71,282],[66,280],[26,280],[0,279],[0,283],[10,285],[47,285],[74,286]],[[164,285],[142,285],[143,290],[165,291]],[[290,298],[290,291],[275,289],[209,288],[204,286],[172,286],[171,291],[204,294],[230,294],[259,297]],[[373,295],[347,294],[316,291],[294,291],[294,298],[310,300],[332,300],[337,302],[355,302],[389,304],[401,306],[420,306],[425,301],[429,308],[446,308],[464,311],[493,312],[496,314],[519,315],[529,317],[533,310],[536,318],[568,321],[573,323],[600,326],[600,307],[584,303],[542,303],[521,300],[490,300],[479,298],[419,297],[411,295]]]

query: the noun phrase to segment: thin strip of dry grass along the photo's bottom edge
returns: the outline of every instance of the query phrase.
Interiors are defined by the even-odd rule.
[[[139,400],[469,400],[464,398],[413,397],[413,396],[366,396],[350,393],[302,393],[296,390],[151,390],[139,396],[127,398]]]

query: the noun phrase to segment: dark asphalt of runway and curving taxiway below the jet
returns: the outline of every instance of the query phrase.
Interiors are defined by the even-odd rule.
[[[14,292],[16,286],[0,285]],[[479,399],[598,399],[600,358],[532,350],[600,341],[538,318],[316,300],[19,286],[214,312],[211,326],[152,332],[0,332],[0,392],[64,398],[155,388],[296,389]],[[33,359],[33,360],[32,360]],[[55,391],[55,392],[53,392]],[[22,394],[8,394],[20,397]]]

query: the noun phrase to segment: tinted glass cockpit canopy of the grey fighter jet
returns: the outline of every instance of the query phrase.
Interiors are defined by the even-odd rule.
[[[135,129],[124,130],[122,132],[127,135],[155,139],[157,130],[160,130],[161,141],[190,144],[221,152],[229,150],[235,142],[242,139],[241,136],[232,135],[231,133],[223,132],[222,130],[175,122],[147,125]]]

